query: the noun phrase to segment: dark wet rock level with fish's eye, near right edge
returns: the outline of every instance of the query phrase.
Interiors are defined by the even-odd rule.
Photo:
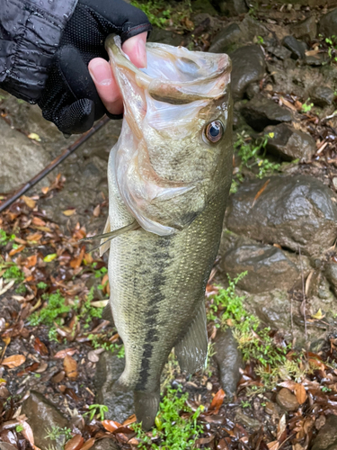
[[[295,130],[286,123],[270,126],[264,133],[273,133],[267,143],[267,150],[285,161],[299,159],[301,162],[309,161],[316,151],[315,140],[310,134]]]

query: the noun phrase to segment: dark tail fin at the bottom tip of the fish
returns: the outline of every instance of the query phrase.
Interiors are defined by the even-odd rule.
[[[155,416],[159,409],[160,392],[134,392],[135,411],[137,421],[148,431],[155,424]]]

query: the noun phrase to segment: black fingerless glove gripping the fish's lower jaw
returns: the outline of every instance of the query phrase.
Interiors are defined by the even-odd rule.
[[[119,34],[123,43],[151,29],[146,14],[123,0],[79,0],[49,67],[39,101],[43,117],[65,134],[89,130],[93,121],[108,113],[89,74],[89,61],[108,59],[104,40],[109,34]]]

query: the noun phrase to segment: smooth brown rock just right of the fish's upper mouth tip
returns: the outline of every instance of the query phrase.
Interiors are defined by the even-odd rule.
[[[251,83],[260,81],[265,72],[264,54],[260,46],[247,45],[236,49],[232,59],[232,92],[235,100],[244,97]]]

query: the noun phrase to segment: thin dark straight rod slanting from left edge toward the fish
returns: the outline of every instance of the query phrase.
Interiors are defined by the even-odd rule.
[[[7,200],[0,204],[0,212],[4,211],[6,208],[11,206],[15,200],[26,193],[32,186],[39,183],[45,176],[47,176],[55,167],[57,167],[61,162],[63,162],[68,156],[75,152],[87,139],[91,138],[95,132],[101,130],[101,128],[109,121],[109,118],[104,116],[100,121],[98,121],[93,128],[86,133],[84,133],[79,139],[77,139],[74,144],[66,148],[59,157],[56,157],[47,167],[42,169],[39,174],[35,175],[31,180],[24,184],[20,189],[18,189],[13,195],[11,195]]]

